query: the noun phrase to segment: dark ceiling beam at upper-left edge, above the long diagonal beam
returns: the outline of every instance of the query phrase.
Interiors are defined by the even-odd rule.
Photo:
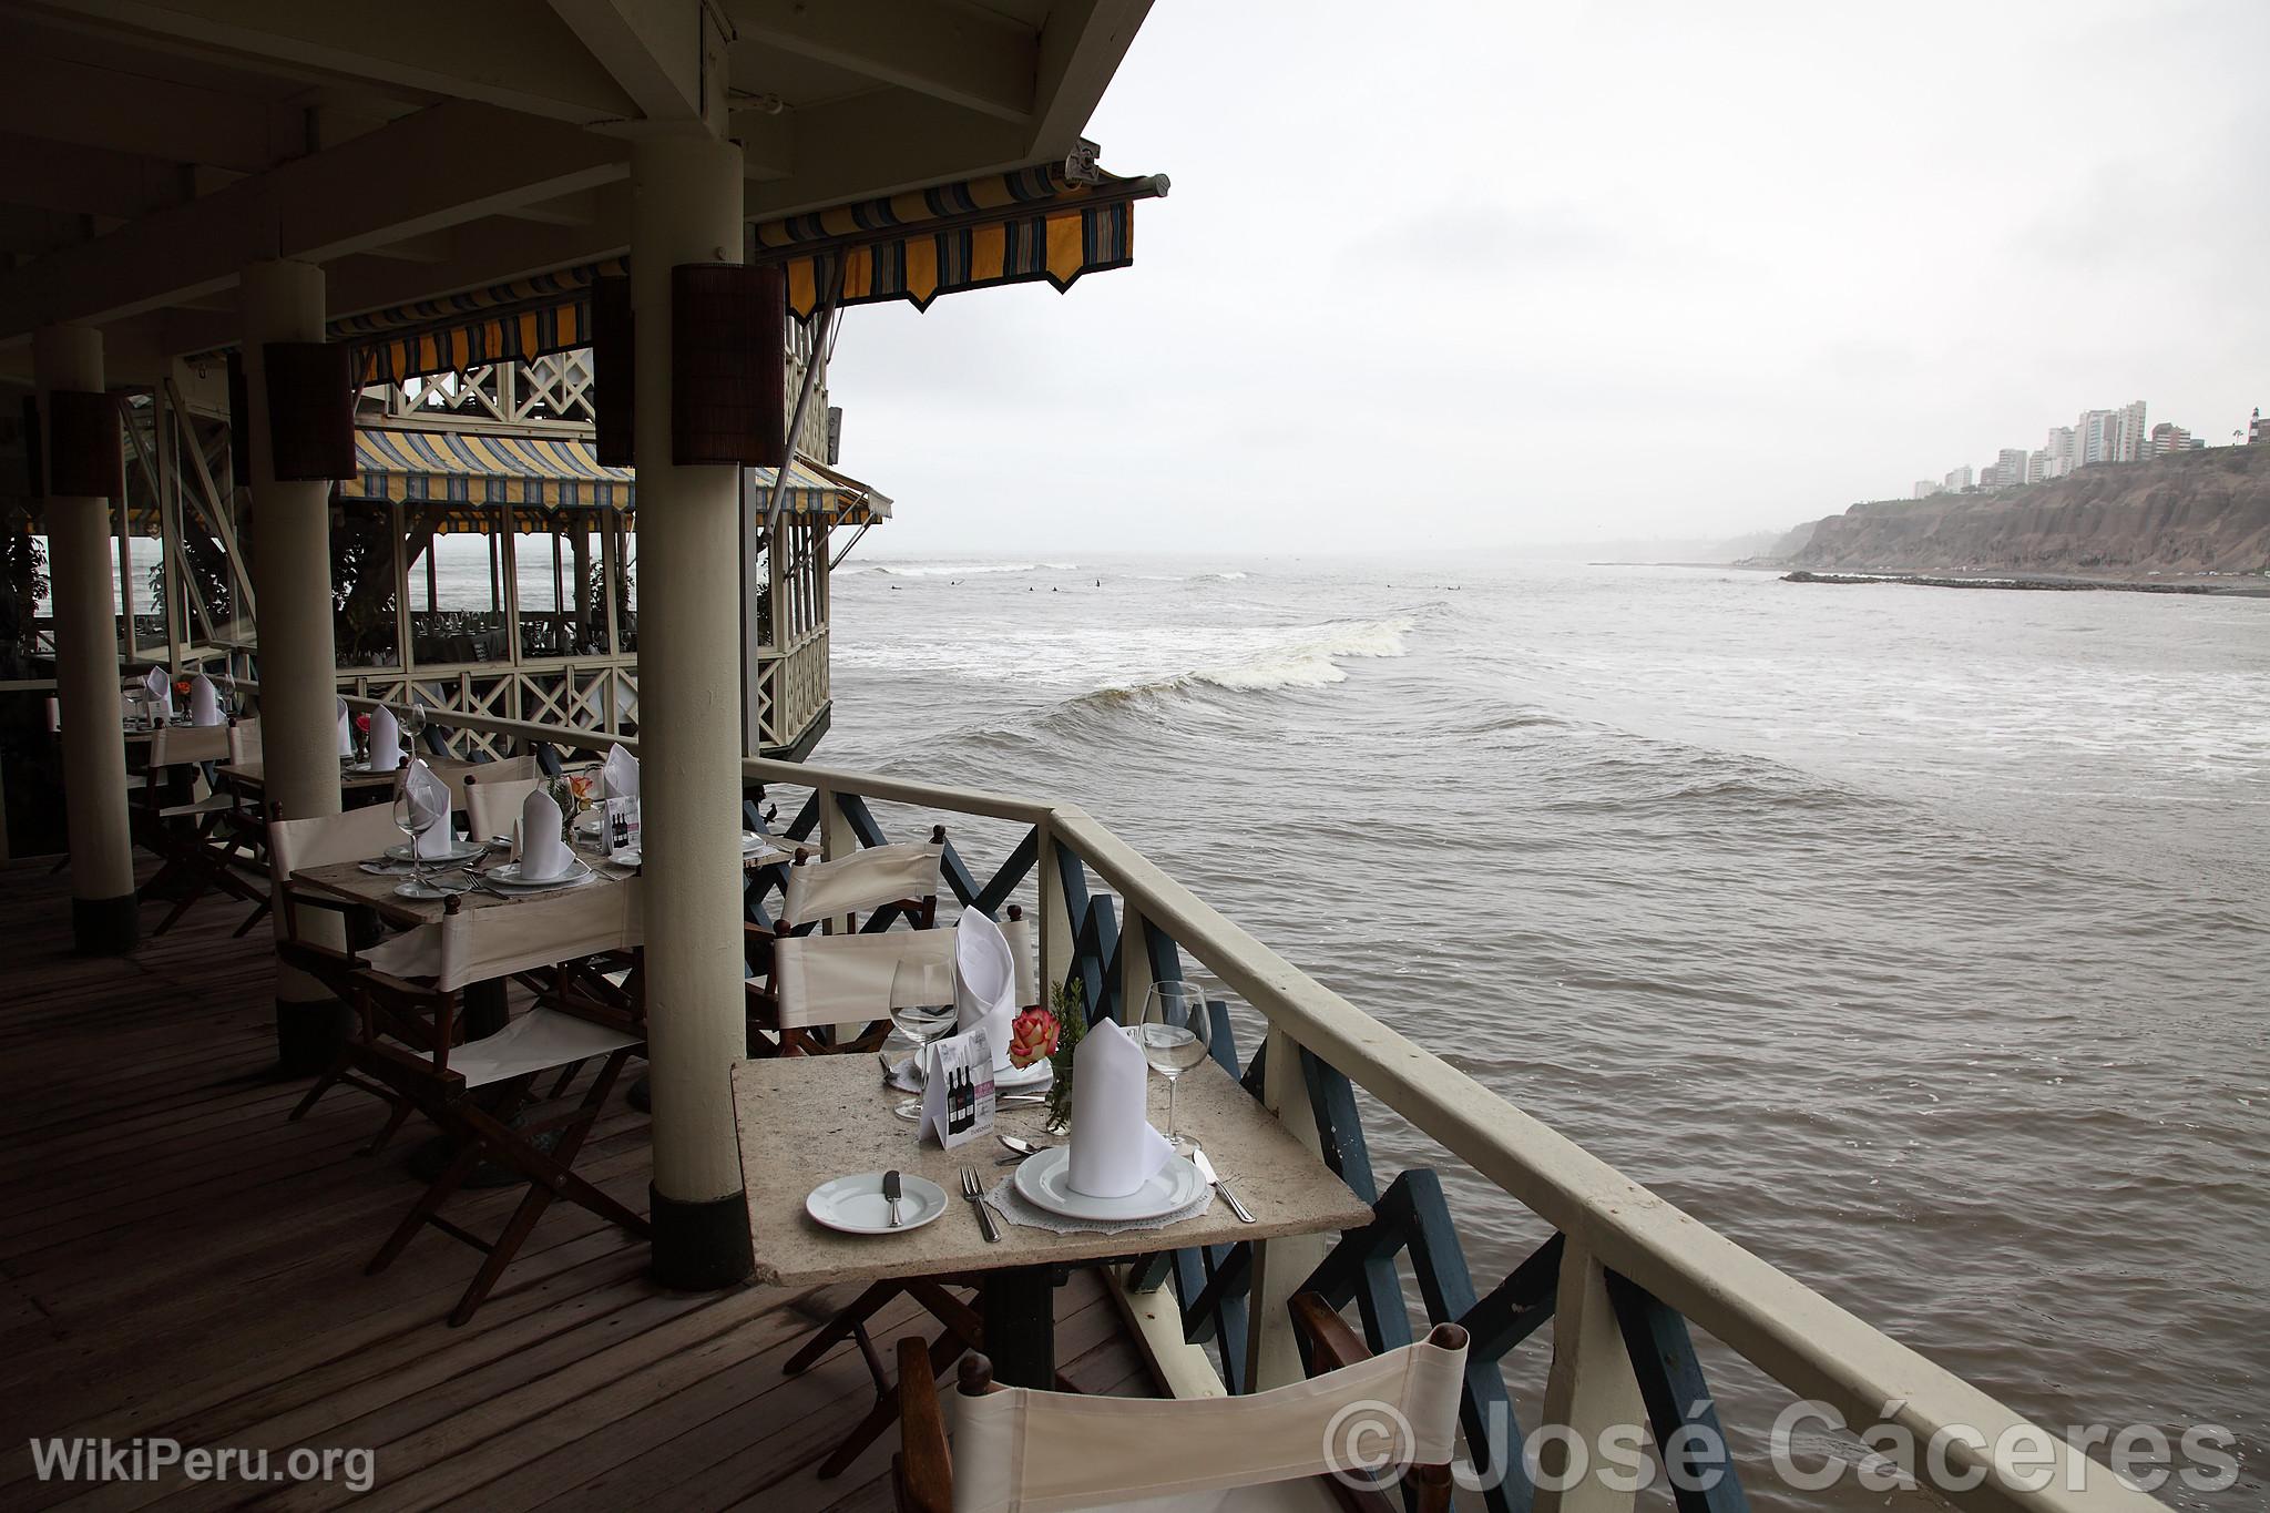
[[[238,172],[306,150],[302,111],[0,48],[0,132]]]

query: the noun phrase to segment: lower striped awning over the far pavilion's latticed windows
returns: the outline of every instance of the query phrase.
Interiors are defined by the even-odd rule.
[[[495,531],[511,513],[513,531],[549,531],[558,515],[638,508],[638,474],[602,467],[590,442],[468,431],[354,433],[356,476],[338,485],[343,504],[445,506],[438,531]],[[770,497],[772,467],[751,467],[751,485]],[[890,517],[890,499],[858,479],[808,458],[788,472],[783,513],[808,522],[872,524]]]

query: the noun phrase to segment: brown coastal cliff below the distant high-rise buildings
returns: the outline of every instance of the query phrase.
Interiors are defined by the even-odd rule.
[[[1784,560],[1834,572],[2259,574],[2270,569],[2270,447],[2104,463],[2000,495],[1855,504],[1814,522]]]

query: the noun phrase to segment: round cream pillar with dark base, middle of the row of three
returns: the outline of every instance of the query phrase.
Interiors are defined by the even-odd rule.
[[[261,762],[286,819],[338,814],[338,681],[331,658],[331,485],[277,483],[266,343],[322,340],[322,268],[252,263],[241,288],[252,449],[252,590],[261,637]],[[277,935],[284,910],[275,912]],[[304,910],[302,930],[338,932]],[[322,937],[318,937],[322,939]],[[345,944],[336,935],[329,944]],[[345,1009],[306,973],[277,969],[277,1055],[288,1073],[329,1066]]]

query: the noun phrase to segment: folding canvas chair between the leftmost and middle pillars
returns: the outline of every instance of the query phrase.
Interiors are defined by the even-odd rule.
[[[216,762],[232,760],[232,726],[163,726],[150,737],[141,842],[163,867],[143,891],[173,898],[173,910],[152,935],[173,930],[200,898],[216,891],[254,905],[236,935],[268,912],[268,896],[252,882],[266,869],[238,823],[252,819],[250,801],[234,785],[209,776]]]

